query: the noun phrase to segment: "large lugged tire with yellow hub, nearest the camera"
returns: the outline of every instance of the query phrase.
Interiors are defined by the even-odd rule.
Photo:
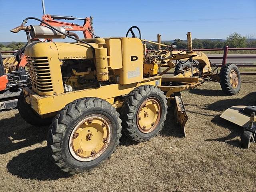
[[[121,137],[116,108],[100,98],[82,98],[66,105],[54,117],[47,138],[53,162],[76,174],[100,165],[116,150]]]

